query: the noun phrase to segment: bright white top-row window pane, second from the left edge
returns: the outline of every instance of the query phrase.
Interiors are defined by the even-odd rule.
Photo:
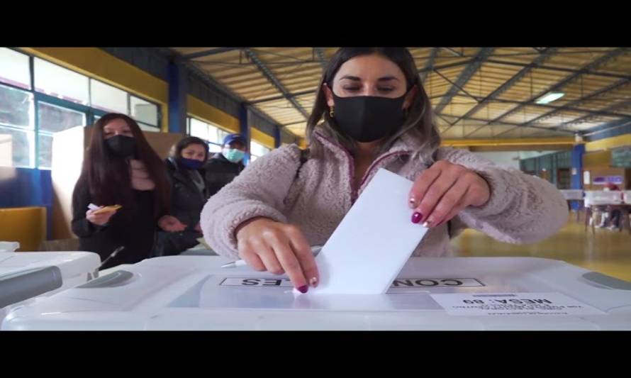
[[[35,58],[35,90],[78,104],[88,104],[88,77]]]

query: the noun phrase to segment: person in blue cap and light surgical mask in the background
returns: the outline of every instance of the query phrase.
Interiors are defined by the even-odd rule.
[[[206,188],[213,196],[245,168],[243,157],[247,152],[247,140],[241,134],[230,134],[223,138],[223,150],[208,159],[206,166]]]

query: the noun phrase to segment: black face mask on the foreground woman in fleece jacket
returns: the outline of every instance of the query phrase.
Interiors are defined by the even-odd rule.
[[[338,97],[333,94],[333,118],[342,133],[357,142],[373,142],[391,135],[403,125],[403,101],[376,96]]]

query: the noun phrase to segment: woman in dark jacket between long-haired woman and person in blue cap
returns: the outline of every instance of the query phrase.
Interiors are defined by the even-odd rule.
[[[177,233],[159,233],[155,255],[178,255],[199,244],[199,214],[208,199],[202,168],[207,160],[208,143],[194,136],[180,140],[171,149],[171,156],[165,162],[171,184],[171,214],[186,229]]]

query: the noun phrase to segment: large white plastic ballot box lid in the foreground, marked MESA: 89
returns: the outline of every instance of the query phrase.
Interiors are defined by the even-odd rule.
[[[536,257],[412,257],[386,294],[296,294],[214,256],[143,260],[23,306],[3,330],[630,330],[631,284]],[[369,280],[371,277],[365,277]]]

